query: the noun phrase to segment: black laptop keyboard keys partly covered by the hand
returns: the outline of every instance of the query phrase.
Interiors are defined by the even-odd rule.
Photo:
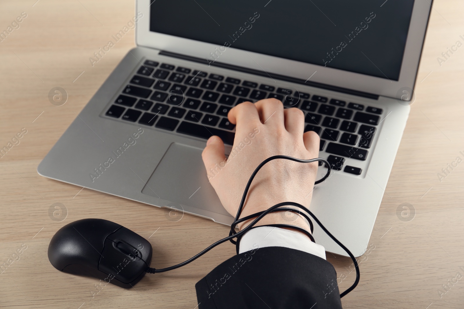
[[[105,115],[197,138],[219,136],[233,145],[235,126],[229,110],[244,101],[276,98],[284,107],[305,113],[304,131],[321,137],[331,167],[342,170],[345,158],[364,161],[383,110],[321,95],[146,60]],[[361,169],[344,171],[361,175]]]

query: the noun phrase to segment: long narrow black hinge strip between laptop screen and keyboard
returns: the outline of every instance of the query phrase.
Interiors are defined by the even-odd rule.
[[[209,64],[209,65],[219,67],[219,68],[232,69],[232,70],[235,70],[235,71],[240,71],[240,72],[244,72],[244,73],[250,73],[250,74],[264,76],[264,77],[271,77],[271,78],[279,79],[279,80],[285,81],[285,82],[294,82],[294,83],[302,84],[302,85],[306,85],[306,86],[312,86],[312,87],[316,87],[316,88],[322,88],[322,89],[326,89],[326,90],[342,92],[342,93],[345,93],[345,94],[348,94],[348,95],[357,95],[357,96],[361,96],[361,97],[368,98],[368,99],[374,99],[374,100],[379,99],[379,95],[374,95],[374,94],[371,94],[371,93],[368,93],[368,92],[362,92],[362,91],[352,90],[352,89],[348,89],[348,88],[336,87],[336,86],[332,86],[332,85],[328,85],[328,84],[323,84],[321,82],[305,81],[303,79],[290,77],[290,76],[284,76],[284,75],[270,73],[270,72],[266,73],[264,71],[244,68],[244,67],[241,67],[241,66],[238,66],[238,65],[222,63],[222,62],[218,62],[218,61],[208,63],[208,61],[206,61],[206,59],[187,56],[187,55],[182,55],[182,54],[177,54],[177,53],[166,51],[166,50],[161,50],[160,55],[179,58],[179,59],[184,59],[184,60],[193,61],[193,62],[197,62],[197,63]]]

